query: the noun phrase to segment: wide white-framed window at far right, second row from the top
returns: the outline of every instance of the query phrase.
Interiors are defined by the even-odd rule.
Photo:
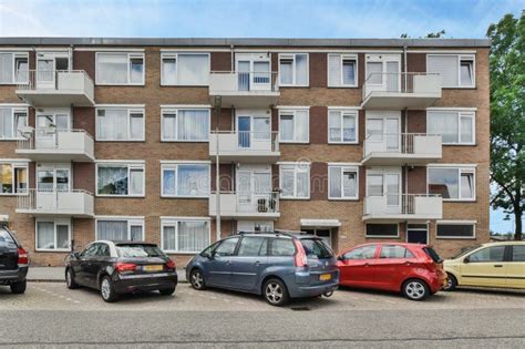
[[[428,111],[426,133],[441,134],[443,144],[475,144],[475,112]]]

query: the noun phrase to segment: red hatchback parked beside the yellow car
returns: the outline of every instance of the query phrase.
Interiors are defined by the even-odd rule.
[[[446,284],[443,260],[428,245],[359,245],[338,256],[338,267],[342,286],[401,291],[412,300],[422,300]]]

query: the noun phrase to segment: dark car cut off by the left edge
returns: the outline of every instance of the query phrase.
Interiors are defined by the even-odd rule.
[[[28,253],[12,232],[0,226],[0,285],[8,285],[13,294],[23,294],[28,268]]]

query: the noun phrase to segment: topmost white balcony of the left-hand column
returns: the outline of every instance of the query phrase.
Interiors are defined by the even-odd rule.
[[[17,94],[34,107],[94,106],[93,80],[83,70],[34,71],[18,83]]]

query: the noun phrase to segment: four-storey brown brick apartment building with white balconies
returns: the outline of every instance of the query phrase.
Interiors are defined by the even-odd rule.
[[[34,264],[238,230],[488,240],[487,40],[0,38],[0,220]]]

